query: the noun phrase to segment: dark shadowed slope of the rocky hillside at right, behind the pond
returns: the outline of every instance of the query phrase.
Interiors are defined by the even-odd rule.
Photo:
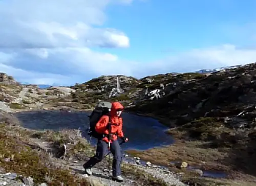
[[[172,126],[200,117],[236,117],[226,118],[226,122],[236,123],[237,127],[249,127],[255,122],[256,64],[177,83],[180,85],[163,98],[140,102],[134,110],[167,118]]]

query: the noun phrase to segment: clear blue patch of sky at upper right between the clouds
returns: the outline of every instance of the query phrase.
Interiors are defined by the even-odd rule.
[[[131,47],[116,54],[148,61],[223,43],[243,45],[248,41],[230,36],[228,27],[243,27],[256,18],[256,2],[250,0],[164,2],[135,1],[131,6],[107,9],[109,20],[105,26],[117,27],[131,39]]]

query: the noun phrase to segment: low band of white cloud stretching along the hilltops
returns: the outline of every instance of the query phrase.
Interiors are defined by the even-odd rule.
[[[88,48],[33,50],[35,56],[31,55],[32,49],[19,52],[5,66],[0,64],[0,69],[23,82],[69,85],[100,75],[123,74],[141,78],[149,74],[188,72],[256,61],[255,49],[237,49],[234,45],[195,49],[146,64],[123,61],[115,55],[94,52]]]

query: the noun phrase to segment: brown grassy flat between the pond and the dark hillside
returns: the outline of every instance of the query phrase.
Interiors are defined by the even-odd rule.
[[[134,111],[130,111],[130,113],[136,114],[141,117],[149,117],[157,120],[159,123],[169,128],[166,133],[172,135],[174,138],[174,144],[170,144],[165,147],[156,147],[145,151],[130,150],[130,153],[132,153],[134,156],[140,157],[145,161],[151,161],[157,165],[168,167],[174,172],[190,172],[188,168],[177,169],[175,167],[176,162],[185,161],[188,163],[188,167],[195,167],[195,169],[197,170],[221,172],[226,174],[225,177],[216,176],[213,178],[214,180],[240,179],[240,181],[245,182],[254,182],[256,180],[255,177],[252,175],[248,175],[241,171],[234,171],[231,166],[223,164],[222,161],[225,161],[225,159],[228,160],[228,157],[226,155],[228,153],[228,149],[223,148],[223,151],[221,151],[221,149],[216,149],[216,151],[214,151],[212,149],[207,150],[207,148],[200,148],[200,146],[207,144],[207,142],[191,138],[182,138],[181,136],[185,134],[181,134],[180,131],[176,130],[179,127],[170,127],[170,125],[166,123],[167,119],[157,117],[156,115],[150,113],[136,113]],[[175,151],[177,152],[176,154],[173,153]],[[154,157],[154,153],[158,153],[158,155]],[[159,157],[163,157],[161,159],[165,160],[161,160],[159,159]],[[170,163],[166,162],[166,159]],[[198,178],[200,177],[201,176],[198,176]]]

